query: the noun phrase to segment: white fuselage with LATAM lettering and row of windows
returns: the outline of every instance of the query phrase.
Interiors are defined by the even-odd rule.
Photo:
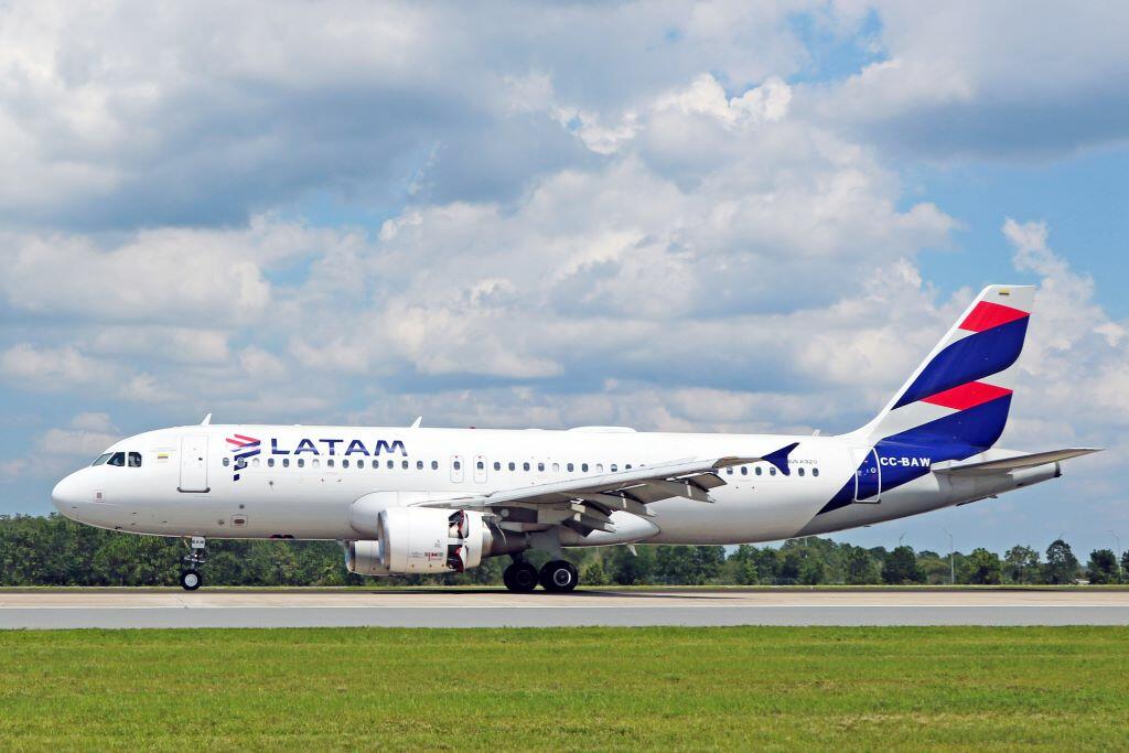
[[[250,452],[237,443],[247,439],[259,441],[247,445],[259,453],[237,462],[236,455]],[[817,515],[854,483],[859,458],[869,452],[849,435],[192,426],[123,439],[107,453],[139,453],[139,466],[82,469],[61,481],[52,498],[68,517],[132,533],[345,541],[366,537],[353,525],[352,506],[374,492],[384,492],[379,499],[390,506],[413,505],[629,465],[761,457],[793,441],[799,444],[787,476],[753,463],[719,472],[726,484],[711,490],[714,504],[685,498],[651,504],[649,520],[657,532],[650,529],[646,541],[734,544],[825,533],[980,499],[1058,473],[1057,464],[959,481],[930,472],[883,491],[876,502]],[[594,536],[590,543],[615,542]]]

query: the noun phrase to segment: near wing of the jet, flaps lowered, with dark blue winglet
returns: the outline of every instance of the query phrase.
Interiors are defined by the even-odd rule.
[[[422,506],[499,514],[507,510],[499,525],[511,531],[543,531],[552,525],[566,525],[581,535],[592,531],[614,532],[611,514],[615,510],[649,517],[654,513],[647,509],[647,505],[672,497],[712,502],[709,491],[725,485],[718,475],[718,471],[725,467],[764,461],[787,475],[788,453],[795,447],[794,443],[763,457],[671,461],[615,473],[434,500],[422,502]]]

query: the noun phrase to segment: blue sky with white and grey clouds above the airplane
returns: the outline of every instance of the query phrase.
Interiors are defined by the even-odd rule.
[[[990,282],[1056,482],[837,535],[1129,545],[1129,6],[0,3],[0,514],[216,422],[865,423]]]

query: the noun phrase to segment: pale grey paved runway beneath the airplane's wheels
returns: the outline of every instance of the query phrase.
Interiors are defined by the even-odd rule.
[[[0,629],[584,625],[1127,625],[1114,590],[0,592]]]

